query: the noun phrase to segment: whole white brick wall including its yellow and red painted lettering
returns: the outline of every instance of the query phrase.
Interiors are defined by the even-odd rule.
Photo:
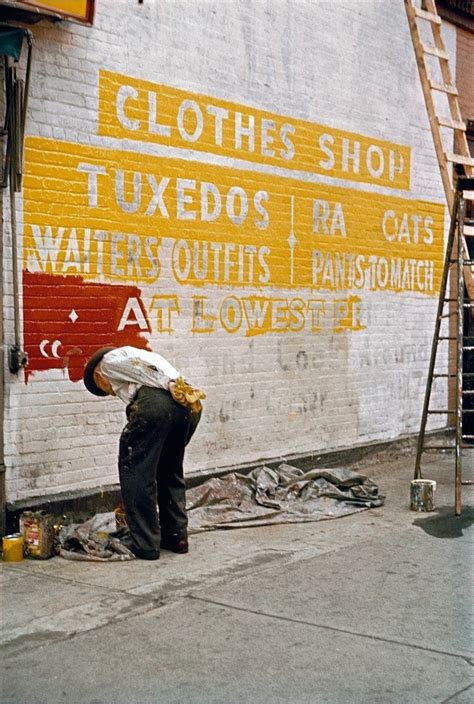
[[[403,3],[102,0],[33,32],[10,500],[117,481],[123,407],[80,381],[107,342],[207,391],[187,472],[416,432],[445,215]]]

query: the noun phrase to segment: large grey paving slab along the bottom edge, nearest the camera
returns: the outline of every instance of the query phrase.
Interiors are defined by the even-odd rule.
[[[195,600],[3,667],[3,704],[441,704],[472,681],[459,657]]]

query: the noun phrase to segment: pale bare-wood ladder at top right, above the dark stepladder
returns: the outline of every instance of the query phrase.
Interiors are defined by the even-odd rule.
[[[431,134],[435,145],[436,156],[441,172],[444,193],[450,212],[453,210],[455,188],[452,177],[451,164],[460,164],[464,167],[466,176],[474,175],[474,159],[470,156],[466,138],[466,125],[463,122],[459,107],[458,91],[451,76],[449,56],[441,36],[441,18],[436,9],[435,0],[425,0],[426,10],[415,4],[415,0],[405,0],[405,9],[408,16],[413,48],[415,49],[416,63],[420,74],[421,87],[425,97],[426,109],[431,126]],[[419,23],[427,22],[431,27],[433,44],[423,42]],[[427,57],[438,59],[442,81],[432,80],[430,64]],[[435,94],[444,93],[449,106],[449,115],[438,115]],[[453,130],[456,137],[456,153],[447,151],[443,144],[441,128]],[[453,139],[454,142],[454,139]],[[469,260],[466,241],[463,240],[465,259]],[[464,266],[464,285],[468,297],[474,301],[474,267]]]

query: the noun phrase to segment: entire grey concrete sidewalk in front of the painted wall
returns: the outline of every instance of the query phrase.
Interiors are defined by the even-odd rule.
[[[4,563],[3,704],[474,702],[474,497],[455,518],[453,462],[425,470],[435,513],[409,510],[405,451],[352,465],[383,508],[202,533],[158,562]]]

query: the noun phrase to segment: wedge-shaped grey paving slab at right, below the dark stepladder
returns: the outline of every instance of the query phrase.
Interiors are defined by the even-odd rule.
[[[469,657],[471,533],[472,526],[465,537],[439,539],[412,527],[217,586],[212,598]]]

